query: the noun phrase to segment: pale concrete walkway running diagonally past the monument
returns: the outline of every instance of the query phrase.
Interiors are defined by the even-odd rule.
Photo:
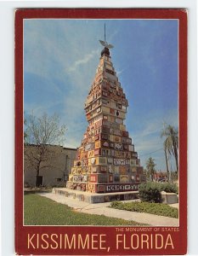
[[[89,204],[84,201],[77,201],[75,199],[71,199],[54,193],[41,193],[39,195],[48,197],[49,199],[72,207],[77,212],[85,212],[89,214],[98,214],[108,217],[133,220],[142,224],[150,224],[151,226],[178,226],[178,218],[168,218],[144,212],[129,212],[124,210],[117,210],[109,207],[110,202]],[[174,207],[178,207],[178,204],[176,204]]]

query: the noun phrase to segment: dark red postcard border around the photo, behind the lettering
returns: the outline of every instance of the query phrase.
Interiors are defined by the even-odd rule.
[[[72,19],[178,19],[179,20],[179,231],[173,236],[174,249],[116,250],[115,227],[23,226],[23,20],[37,18]],[[110,252],[27,248],[27,233],[106,234]],[[76,232],[77,232],[76,231]],[[136,232],[137,234],[139,232]],[[144,232],[145,233],[145,232]],[[155,233],[155,232],[153,232]],[[149,234],[149,233],[148,233]],[[166,235],[167,232],[161,233]],[[15,251],[19,254],[185,254],[187,250],[187,12],[184,9],[19,9],[15,12]]]

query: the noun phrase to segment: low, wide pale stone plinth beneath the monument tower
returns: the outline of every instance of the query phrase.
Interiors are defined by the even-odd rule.
[[[139,198],[139,191],[115,192],[115,193],[88,193],[73,189],[54,188],[53,193],[63,195],[78,201],[86,201],[90,204],[104,203],[108,201],[127,201]]]

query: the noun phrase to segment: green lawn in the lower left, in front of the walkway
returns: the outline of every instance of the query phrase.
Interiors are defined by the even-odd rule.
[[[24,195],[25,225],[145,225],[122,218],[75,212],[71,207],[37,194]]]

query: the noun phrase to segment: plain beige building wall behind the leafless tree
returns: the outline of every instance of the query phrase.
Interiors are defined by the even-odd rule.
[[[37,154],[37,147],[34,145],[25,146],[25,154]],[[48,145],[48,160],[42,164],[48,166],[41,168],[39,176],[42,176],[42,185],[56,186],[66,181],[71,173],[71,167],[76,159],[76,148],[63,148],[61,146]],[[31,165],[27,157],[24,159],[24,184],[35,186],[37,170]]]

